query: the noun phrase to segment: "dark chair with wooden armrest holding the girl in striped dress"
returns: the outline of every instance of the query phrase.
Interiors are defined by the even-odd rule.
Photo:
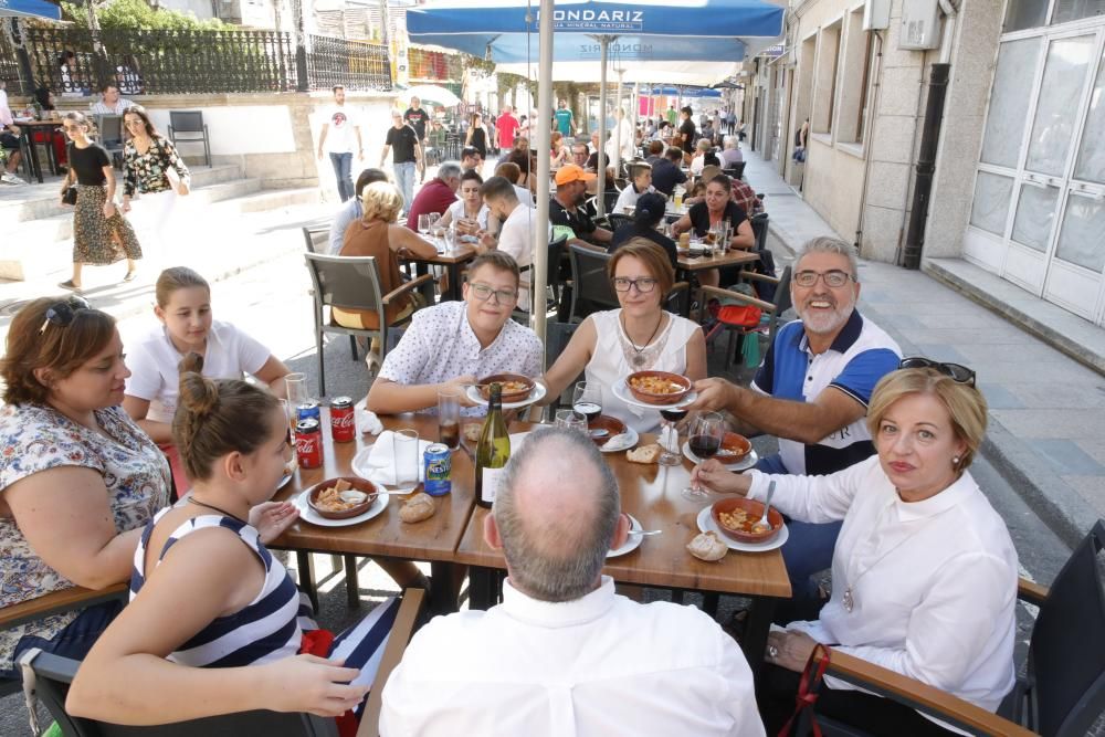
[[[407,589],[402,603],[391,627],[380,664],[376,671],[373,687],[365,706],[358,735],[379,735],[381,693],[388,676],[402,660],[411,636],[414,634],[425,601],[425,591]],[[76,675],[80,661],[39,653],[31,661],[39,698],[50,710],[66,737],[236,737],[238,735],[280,735],[281,737],[337,737],[334,719],[313,714],[283,712],[239,712],[202,719],[177,722],[147,727],[128,727],[107,722],[95,722],[70,716],[65,712],[65,697],[70,684]]]

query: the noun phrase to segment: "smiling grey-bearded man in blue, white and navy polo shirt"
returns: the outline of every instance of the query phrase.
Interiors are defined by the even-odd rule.
[[[765,473],[829,474],[875,453],[864,420],[867,401],[897,368],[902,350],[855,309],[857,267],[854,249],[843,241],[806,243],[790,282],[800,319],[778,330],[751,388],[724,379],[695,385],[699,396],[691,409],[728,410],[738,432],[779,438],[779,453],[756,465]],[[841,524],[788,523],[782,556],[796,606],[815,599],[810,577],[832,565]]]

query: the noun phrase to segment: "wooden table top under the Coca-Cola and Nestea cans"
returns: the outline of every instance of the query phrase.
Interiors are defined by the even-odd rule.
[[[273,497],[291,499],[307,487],[336,476],[355,476],[351,462],[362,448],[376,442],[372,435],[357,435],[350,443],[334,443],[329,433],[329,410],[323,412],[323,466],[297,468],[292,480]],[[424,415],[381,417],[388,430],[411,428],[421,440],[438,440],[438,419]],[[473,504],[474,470],[467,453],[452,455],[452,493],[436,497],[438,510],[429,519],[407,524],[399,519],[403,497],[392,496],[377,517],[349,527],[319,527],[298,520],[277,538],[274,548],[325,550],[360,556],[383,556],[408,560],[452,560],[464,533]]]

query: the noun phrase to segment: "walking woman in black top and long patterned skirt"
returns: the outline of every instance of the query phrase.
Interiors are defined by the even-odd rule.
[[[59,286],[81,289],[84,264],[114,264],[127,260],[124,282],[137,275],[136,261],[141,246],[130,223],[115,207],[115,170],[112,157],[92,140],[92,123],[81,113],[66,113],[62,128],[69,137],[70,169],[62,181],[62,196],[76,182],[76,209],[73,212],[73,276]]]

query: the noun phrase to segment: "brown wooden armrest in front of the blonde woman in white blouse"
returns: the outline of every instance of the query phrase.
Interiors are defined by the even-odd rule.
[[[1030,737],[1034,734],[958,696],[839,650],[831,650],[825,675],[986,735]]]

